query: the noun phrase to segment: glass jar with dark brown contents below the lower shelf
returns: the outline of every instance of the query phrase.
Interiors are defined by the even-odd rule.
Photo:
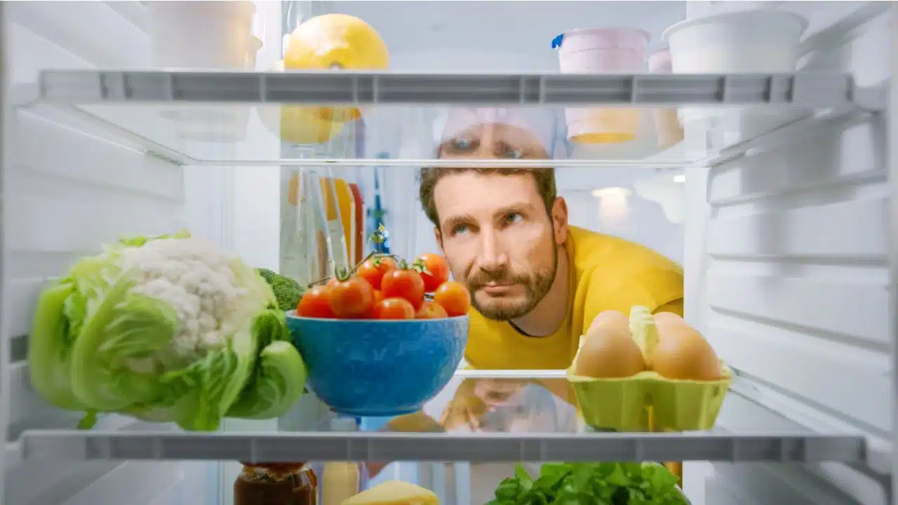
[[[318,505],[318,476],[305,463],[243,464],[233,505]]]

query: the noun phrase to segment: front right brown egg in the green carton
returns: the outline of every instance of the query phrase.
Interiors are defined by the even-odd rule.
[[[666,316],[661,319],[656,318],[659,340],[649,360],[652,369],[661,377],[676,380],[720,378],[718,355],[701,333],[676,319]]]

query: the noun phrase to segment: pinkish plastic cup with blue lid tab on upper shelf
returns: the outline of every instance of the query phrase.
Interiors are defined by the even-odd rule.
[[[638,73],[646,67],[648,33],[635,28],[567,31],[561,38],[562,74]],[[636,109],[568,109],[568,139],[585,144],[626,142],[636,137]]]

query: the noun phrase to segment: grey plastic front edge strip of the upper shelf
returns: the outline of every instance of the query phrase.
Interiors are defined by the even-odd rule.
[[[601,104],[879,108],[850,75],[408,74],[46,70],[41,102],[252,102],[355,105]]]

